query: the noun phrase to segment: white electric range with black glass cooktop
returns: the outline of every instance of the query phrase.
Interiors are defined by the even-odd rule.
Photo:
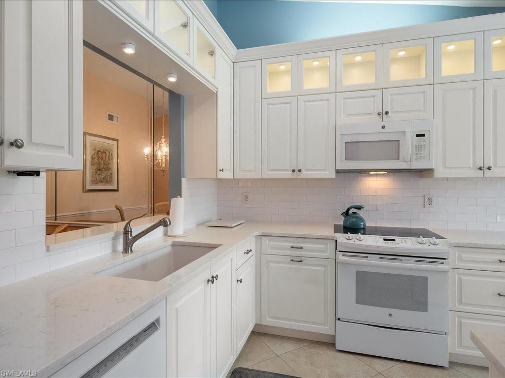
[[[427,229],[335,225],[339,350],[448,366],[449,247]]]

